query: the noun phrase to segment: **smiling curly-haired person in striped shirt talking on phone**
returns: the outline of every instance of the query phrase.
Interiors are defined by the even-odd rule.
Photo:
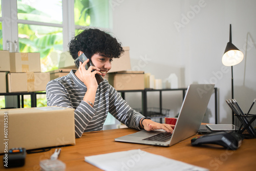
[[[104,78],[111,69],[112,59],[123,53],[116,38],[98,29],[86,29],[70,41],[69,48],[73,59],[84,53],[94,66],[86,70],[89,59],[80,62],[78,70],[51,80],[46,93],[48,106],[75,109],[76,138],[81,137],[83,132],[102,130],[108,113],[137,130],[163,129],[173,132],[171,125],[154,122],[133,110],[107,80],[97,83],[95,74]]]

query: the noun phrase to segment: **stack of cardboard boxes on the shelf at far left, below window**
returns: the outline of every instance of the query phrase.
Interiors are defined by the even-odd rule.
[[[45,91],[49,73],[42,73],[40,53],[0,51],[0,93]]]

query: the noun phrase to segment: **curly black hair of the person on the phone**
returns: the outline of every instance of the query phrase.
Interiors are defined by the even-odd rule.
[[[121,43],[109,33],[99,29],[84,29],[69,42],[69,52],[73,59],[82,51],[89,58],[95,53],[102,53],[108,57],[119,58],[124,52]]]

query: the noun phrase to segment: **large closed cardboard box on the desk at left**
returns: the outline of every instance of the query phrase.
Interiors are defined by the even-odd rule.
[[[0,110],[0,153],[75,144],[74,109],[57,106]]]

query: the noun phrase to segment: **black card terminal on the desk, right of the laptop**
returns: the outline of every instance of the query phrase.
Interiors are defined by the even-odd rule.
[[[243,136],[234,131],[218,132],[191,139],[192,145],[217,144],[227,149],[237,149],[241,146]]]

